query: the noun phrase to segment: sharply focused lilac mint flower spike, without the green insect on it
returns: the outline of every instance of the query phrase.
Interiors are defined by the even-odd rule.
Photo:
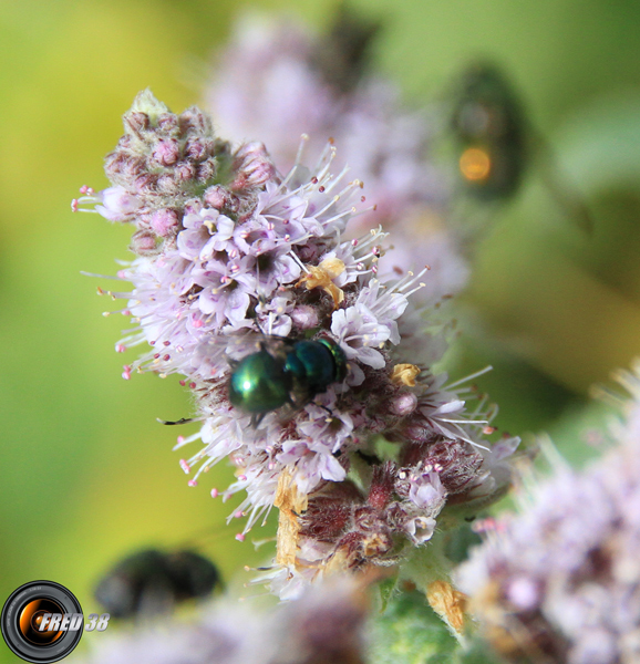
[[[106,158],[113,186],[83,187],[82,201],[134,228],[137,258],[117,276],[133,290],[106,294],[126,300],[121,312],[135,324],[116,351],[151,350],[123,377],[183,376],[200,429],[176,448],[202,447],[179,465],[197,486],[214,464],[234,464],[236,481],[211,496],[246,491],[229,516],[247,518],[237,539],[278,508],[264,579],[275,592],[295,598],[326,574],[399,564],[431,539],[445,508],[475,513],[506,490],[518,439],[489,446],[495,411],[485,398],[467,411],[473,390],[431,372],[446,328],[412,300],[432,271],[385,278],[385,232],[345,239],[373,208],[347,167],[332,174],[331,143],[308,168],[303,137],[281,175],[261,143],[231,148],[198,108],[175,115],[148,91],[124,127]],[[290,404],[259,418],[231,404],[235,362],[262,350],[286,355],[301,340],[337,349],[344,372],[332,359],[333,380],[313,398],[291,392]],[[382,438],[393,454],[379,449]]]

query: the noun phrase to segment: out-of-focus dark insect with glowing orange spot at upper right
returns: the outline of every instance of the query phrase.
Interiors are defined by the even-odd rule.
[[[451,128],[464,191],[485,203],[506,201],[535,163],[567,217],[590,231],[589,210],[560,173],[506,75],[495,64],[479,62],[464,71],[455,89]]]

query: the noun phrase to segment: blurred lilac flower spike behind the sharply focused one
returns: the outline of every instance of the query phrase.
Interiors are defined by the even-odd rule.
[[[206,105],[226,136],[264,141],[281,169],[296,163],[301,134],[311,154],[333,137],[337,168],[349,164],[376,204],[350,224],[350,237],[378,224],[393,230],[384,270],[431,266],[415,298],[433,305],[469,276],[447,214],[450,174],[432,157],[443,118],[403,104],[398,84],[373,71],[372,25],[349,10],[337,13],[324,35],[290,18],[241,15],[218,54]]]

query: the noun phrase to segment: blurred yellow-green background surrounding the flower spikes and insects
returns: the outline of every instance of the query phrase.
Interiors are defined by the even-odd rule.
[[[321,30],[334,4],[254,7],[296,11]],[[592,210],[588,236],[531,168],[479,248],[452,360],[456,376],[495,366],[481,386],[500,404],[500,428],[548,430],[580,460],[585,417],[598,423],[603,411],[589,386],[640,354],[640,4],[353,6],[384,22],[378,64],[410,100],[436,98],[478,55],[502,64]],[[205,529],[215,535],[203,550],[227,578],[260,559],[224,526],[230,507],[208,496],[228,469],[188,488],[171,452],[176,432],[155,421],[189,413],[177,378],[120,377],[113,344],[127,321],[101,315],[112,303],[80,271],[113,273],[130,229],[69,207],[81,185],[106,186],[102,157],[140,90],[178,112],[200,101],[210,54],[245,7],[0,2],[0,601],[51,579],[99,611],[91,587],[115,558]],[[0,661],[18,658],[2,644]]]

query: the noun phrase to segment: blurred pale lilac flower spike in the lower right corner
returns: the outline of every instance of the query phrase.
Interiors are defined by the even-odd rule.
[[[640,661],[640,363],[617,378],[632,398],[613,446],[578,471],[544,443],[554,476],[458,570],[482,631],[509,662]]]

